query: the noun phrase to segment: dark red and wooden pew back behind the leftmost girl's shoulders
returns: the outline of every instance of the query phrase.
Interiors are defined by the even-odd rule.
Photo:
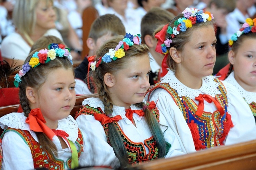
[[[82,108],[82,102],[84,101],[84,99],[89,98],[89,97],[98,97],[98,94],[88,94],[88,95],[76,96],[75,106],[71,110],[70,115],[72,115],[74,117],[76,114],[76,111],[79,111],[79,109]],[[19,108],[19,105],[10,105],[10,106],[0,107],[0,117],[4,116],[5,114],[8,114],[8,113],[17,112],[18,108]]]

